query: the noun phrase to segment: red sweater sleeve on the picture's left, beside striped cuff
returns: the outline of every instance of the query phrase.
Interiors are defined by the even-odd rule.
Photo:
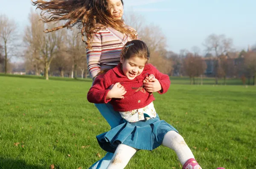
[[[108,103],[111,101],[111,99],[106,99],[108,92],[108,78],[105,75],[99,75],[87,93],[87,100],[96,104]]]

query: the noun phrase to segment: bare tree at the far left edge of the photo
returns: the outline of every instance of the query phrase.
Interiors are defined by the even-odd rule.
[[[9,20],[6,15],[0,15],[0,40],[4,48],[4,72],[7,73],[9,59],[15,51],[15,40],[17,37],[17,25]],[[17,48],[17,47],[16,47]]]

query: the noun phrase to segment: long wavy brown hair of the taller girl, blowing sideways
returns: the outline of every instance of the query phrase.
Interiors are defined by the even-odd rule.
[[[32,4],[41,9],[41,17],[45,23],[64,20],[64,25],[47,29],[52,32],[61,28],[71,28],[78,25],[81,28],[82,40],[87,48],[91,48],[90,41],[96,31],[111,26],[117,31],[136,39],[136,31],[128,28],[124,20],[115,20],[108,10],[108,0],[33,0]],[[121,0],[122,4],[123,1]],[[49,14],[45,16],[45,14]],[[85,34],[85,35],[84,35]],[[86,40],[84,37],[86,36]]]

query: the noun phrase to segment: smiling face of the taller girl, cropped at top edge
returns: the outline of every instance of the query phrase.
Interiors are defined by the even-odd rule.
[[[108,0],[108,9],[111,14],[111,17],[113,17],[116,20],[121,20],[124,7],[122,5],[121,0]]]

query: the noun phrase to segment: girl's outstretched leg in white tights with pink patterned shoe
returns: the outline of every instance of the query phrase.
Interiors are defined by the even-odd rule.
[[[177,132],[167,132],[163,138],[163,146],[169,147],[176,152],[180,163],[183,165],[183,169],[186,169],[186,167],[189,167],[188,169],[201,169],[201,166],[195,161],[195,157],[189,146],[187,146],[183,137]]]

